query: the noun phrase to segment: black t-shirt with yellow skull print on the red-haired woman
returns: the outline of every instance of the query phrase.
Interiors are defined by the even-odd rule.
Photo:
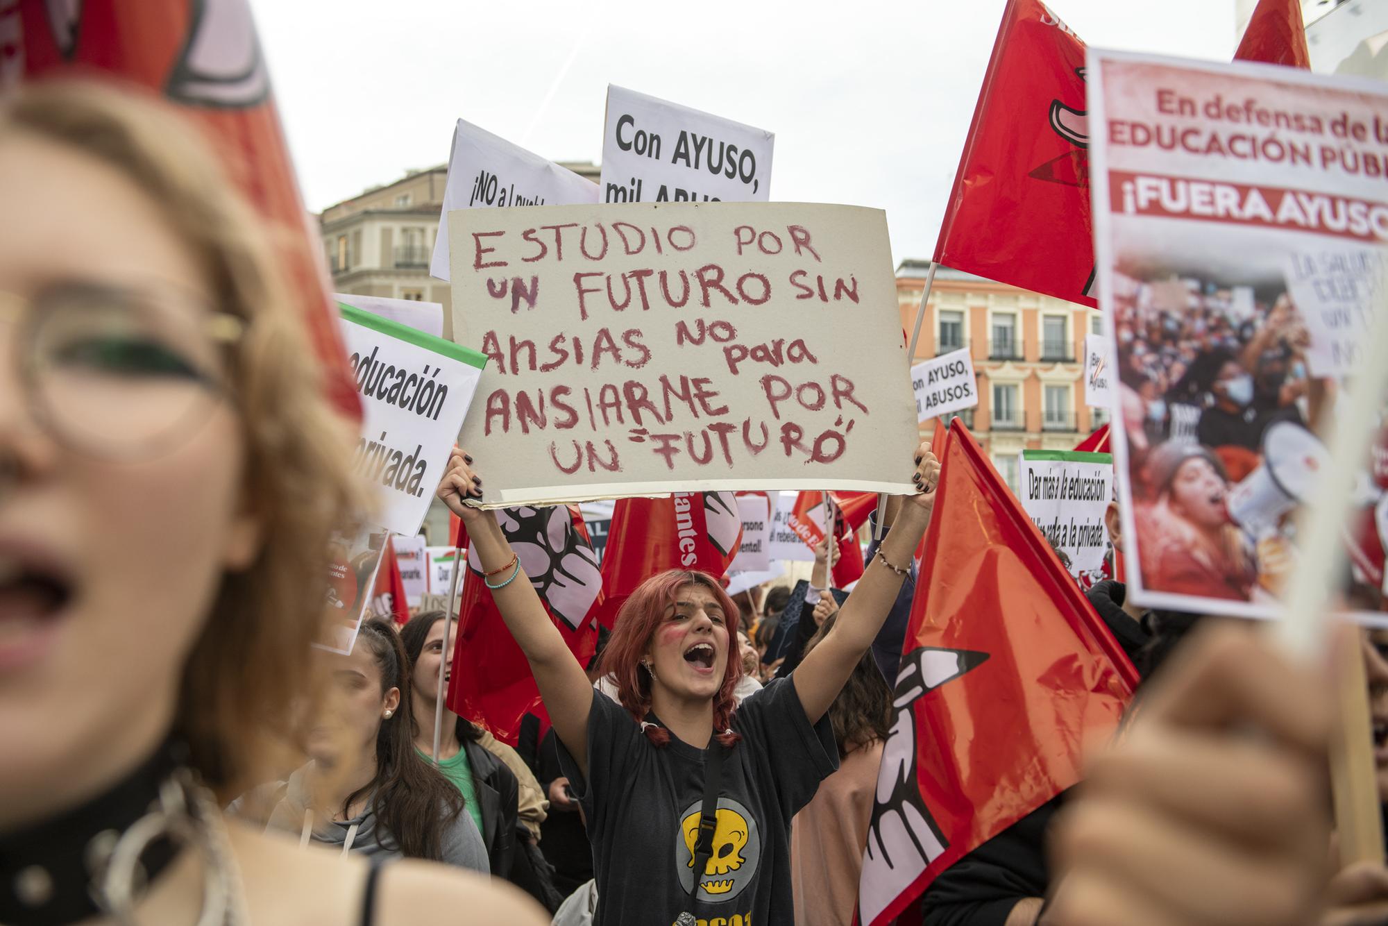
[[[673,734],[657,747],[620,704],[594,693],[587,780],[558,744],[559,765],[589,820],[594,926],[670,926],[682,912],[693,912],[700,926],[795,922],[790,820],[837,771],[834,732],[827,716],[811,726],[790,679],[744,700],[733,729],[743,739],[723,758],[713,855],[691,908],[704,750]]]

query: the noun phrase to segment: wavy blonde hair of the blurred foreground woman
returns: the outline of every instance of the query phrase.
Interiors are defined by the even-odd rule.
[[[175,721],[204,782],[235,794],[298,739],[293,708],[312,693],[307,654],[326,614],[330,537],[366,498],[351,471],[354,429],[325,398],[264,224],[187,118],[140,92],[54,81],[0,104],[0,136],[14,131],[125,174],[201,258],[218,308],[246,322],[230,348],[232,403],[262,544],[247,569],[222,578]]]

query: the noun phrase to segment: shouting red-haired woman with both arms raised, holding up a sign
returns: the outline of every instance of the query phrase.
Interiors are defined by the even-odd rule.
[[[904,468],[908,461],[902,461]],[[439,497],[464,519],[497,608],[526,654],[583,807],[595,923],[794,922],[790,820],[838,765],[824,715],[872,646],[924,534],[940,462],[922,444],[906,504],[834,633],[740,705],[737,608],[702,572],[651,576],[602,655],[618,701],[593,690],[457,451]]]

